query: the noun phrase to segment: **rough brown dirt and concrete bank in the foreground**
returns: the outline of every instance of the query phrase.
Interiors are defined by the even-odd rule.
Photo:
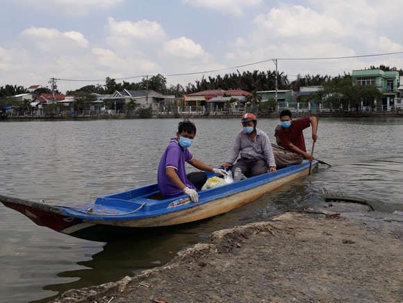
[[[216,231],[160,268],[53,302],[401,302],[403,216],[314,207]]]

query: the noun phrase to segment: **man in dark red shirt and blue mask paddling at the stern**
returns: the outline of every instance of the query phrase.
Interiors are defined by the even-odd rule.
[[[281,127],[277,129],[277,142],[283,149],[274,149],[273,154],[276,160],[277,168],[286,166],[287,164],[300,164],[304,158],[309,161],[313,160],[313,156],[306,152],[304,129],[312,126],[312,139],[316,141],[318,135],[316,129],[318,120],[316,117],[306,117],[293,120],[290,110],[283,110],[280,113]]]

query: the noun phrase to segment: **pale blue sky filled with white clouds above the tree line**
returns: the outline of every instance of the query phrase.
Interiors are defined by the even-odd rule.
[[[400,0],[0,0],[0,86],[403,69]],[[397,54],[393,54],[397,53]],[[375,56],[376,55],[376,56]],[[349,58],[346,58],[349,57]]]

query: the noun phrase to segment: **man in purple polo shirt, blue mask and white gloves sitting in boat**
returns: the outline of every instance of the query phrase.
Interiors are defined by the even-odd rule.
[[[185,119],[179,123],[176,138],[171,138],[171,142],[161,156],[158,165],[158,188],[165,199],[176,197],[185,193],[193,202],[199,201],[197,190],[200,190],[207,181],[205,172],[191,172],[186,174],[185,163],[196,167],[198,170],[214,172],[215,174],[227,174],[225,170],[220,170],[206,165],[195,158],[188,147],[196,136],[196,126]]]

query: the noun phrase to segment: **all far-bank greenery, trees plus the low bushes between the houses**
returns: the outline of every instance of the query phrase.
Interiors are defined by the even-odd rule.
[[[381,69],[384,71],[395,70],[396,67],[386,67],[380,65],[379,67],[371,66],[370,69]],[[403,70],[398,70],[399,74],[403,75]],[[72,105],[75,110],[85,110],[88,109],[89,104],[96,97],[94,93],[106,95],[112,94],[113,92],[121,90],[154,90],[160,92],[164,95],[174,95],[176,97],[182,97],[185,94],[190,94],[192,92],[199,92],[201,90],[232,90],[240,89],[247,92],[252,92],[252,96],[247,97],[247,102],[250,104],[250,108],[254,110],[268,111],[271,112],[276,108],[275,100],[268,100],[265,102],[261,101],[261,95],[258,91],[263,90],[274,90],[276,88],[276,72],[265,71],[261,72],[254,70],[253,72],[239,72],[232,74],[225,74],[224,76],[204,76],[201,80],[195,81],[195,83],[189,83],[183,88],[182,85],[170,85],[167,87],[167,81],[165,77],[161,74],[156,76],[146,76],[138,83],[129,83],[123,81],[123,83],[117,83],[115,79],[109,77],[106,78],[104,85],[86,85],[77,90],[69,90],[66,92],[67,95],[74,95],[76,101]],[[302,103],[311,102],[313,104],[318,104],[323,101],[324,106],[331,106],[331,108],[343,108],[346,109],[348,106],[350,108],[356,108],[359,110],[361,108],[361,101],[363,101],[363,106],[374,106],[373,101],[381,99],[381,92],[375,86],[361,86],[354,85],[352,83],[351,76],[349,74],[344,74],[343,76],[321,76],[321,75],[297,75],[297,79],[294,81],[289,81],[288,76],[283,72],[277,74],[277,89],[279,90],[294,90],[298,91],[302,86],[309,85],[322,85],[322,90],[315,95],[303,96],[300,101]],[[27,93],[28,90],[22,86],[17,85],[4,85],[0,87],[0,106],[15,106],[21,110],[30,110],[29,102],[18,101],[13,96]],[[42,93],[51,94],[52,91],[49,88],[39,88],[33,92],[33,95],[40,95]],[[56,94],[60,92],[56,91]],[[231,103],[236,102],[236,100],[231,99],[224,104],[225,108],[229,108]],[[49,106],[49,105],[48,105]],[[106,109],[110,109],[112,104],[109,101],[104,101],[103,106]],[[128,110],[135,110],[138,104],[135,101],[130,101],[127,104]],[[170,104],[166,105],[167,112],[170,110]],[[174,107],[173,107],[174,108]],[[141,115],[140,115],[141,113]],[[140,117],[151,116],[151,109],[146,108],[138,111]],[[206,112],[208,115],[208,112]]]

